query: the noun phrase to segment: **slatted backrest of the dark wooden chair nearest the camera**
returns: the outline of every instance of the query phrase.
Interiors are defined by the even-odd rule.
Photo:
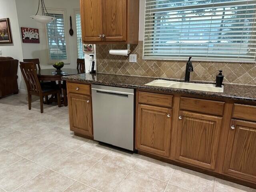
[[[20,70],[24,77],[28,92],[42,93],[40,82],[37,77],[37,69],[32,62],[20,62]]]

